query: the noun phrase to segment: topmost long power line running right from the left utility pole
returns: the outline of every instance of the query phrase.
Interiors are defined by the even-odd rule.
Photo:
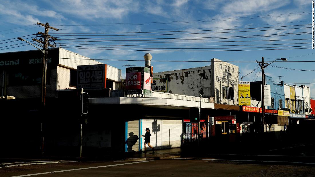
[[[276,14],[276,15],[283,15],[283,16],[293,16],[293,15],[307,15],[312,14],[311,12],[298,12],[298,13],[289,13],[288,14]],[[263,16],[251,16],[251,17],[257,17],[257,18],[251,18],[251,17],[237,17],[237,18],[225,18],[225,19],[204,19],[204,20],[188,20],[188,21],[168,21],[168,22],[143,22],[143,23],[94,23],[94,24],[54,24],[57,26],[91,26],[91,25],[97,25],[97,26],[114,26],[114,25],[158,25],[158,24],[176,24],[176,23],[200,23],[200,22],[211,22],[213,21],[229,21],[229,20],[243,20],[243,19],[260,19],[260,18],[272,18],[272,17],[283,17],[283,16],[276,16],[276,15],[263,15]],[[241,19],[243,18],[243,19]]]

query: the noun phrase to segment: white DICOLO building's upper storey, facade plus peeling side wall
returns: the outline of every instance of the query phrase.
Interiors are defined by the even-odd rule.
[[[214,103],[237,105],[238,66],[211,59],[211,66],[153,74],[153,90],[210,98]]]

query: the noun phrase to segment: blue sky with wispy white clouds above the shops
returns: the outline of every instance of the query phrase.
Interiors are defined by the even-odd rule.
[[[156,35],[156,36],[139,36],[140,33],[124,33],[136,34],[138,36],[81,36],[82,38],[191,38],[191,37],[223,37],[223,36],[249,36],[249,35],[270,35],[311,31],[312,14],[311,0],[240,0],[240,1],[224,1],[224,0],[157,0],[157,1],[132,1],[132,0],[43,0],[43,1],[6,1],[0,3],[0,41],[26,36],[43,32],[43,27],[37,27],[37,22],[46,23],[59,28],[59,33],[88,33],[88,32],[147,32],[147,31],[179,31],[192,30],[199,34],[182,34],[180,35]],[[295,13],[295,14],[293,14]],[[279,15],[283,14],[283,15]],[[247,17],[247,18],[245,18]],[[210,20],[212,19],[212,20]],[[215,19],[215,20],[213,20]],[[199,21],[198,21],[199,20]],[[176,22],[174,22],[176,21]],[[152,23],[164,22],[164,23]],[[167,22],[167,23],[165,23]],[[72,24],[72,25],[66,25]],[[98,24],[98,25],[96,25]],[[270,24],[270,25],[266,25]],[[31,26],[26,26],[31,25]],[[61,26],[63,25],[63,26]],[[226,30],[236,28],[257,28],[257,27],[274,27],[288,25],[304,25],[290,26],[266,29],[281,30],[265,30],[265,31],[248,31],[248,32],[232,32],[232,33],[213,33],[215,31],[198,31],[198,30],[218,30],[221,31],[240,31]],[[22,27],[23,28],[17,28]],[[8,30],[17,28],[14,30]],[[288,29],[290,28],[290,29]],[[300,29],[292,29],[300,28]],[[4,31],[5,30],[5,31]],[[196,32],[197,30],[197,32]],[[249,29],[244,29],[249,30]],[[263,29],[251,29],[263,30]],[[209,33],[212,32],[212,33]],[[217,32],[217,31],[216,31]],[[8,34],[7,34],[8,33]],[[55,37],[76,38],[78,36],[58,36],[56,31],[50,31]],[[206,33],[206,34],[200,34]],[[143,34],[143,33],[142,33]],[[146,33],[149,34],[149,33]],[[166,34],[150,33],[150,34]],[[170,34],[170,33],[168,33]],[[301,34],[301,33],[300,33]],[[62,34],[65,35],[65,34]],[[72,34],[78,35],[78,34]],[[80,34],[79,34],[80,35]],[[90,34],[94,35],[94,34]],[[98,34],[102,35],[102,34]],[[107,34],[108,35],[108,34]],[[32,37],[32,36],[28,36]],[[154,42],[133,42],[125,43],[116,41],[113,43],[96,43],[96,42],[74,42],[59,41],[61,46],[67,50],[79,53],[92,59],[128,59],[143,60],[145,53],[151,53],[152,60],[185,60],[185,61],[210,61],[211,58],[218,58],[223,61],[255,61],[265,58],[265,61],[273,61],[276,58],[288,58],[289,61],[314,60],[315,50],[313,49],[292,49],[292,50],[254,50],[254,51],[126,51],[126,50],[93,50],[93,49],[74,49],[66,48],[67,43],[77,43],[77,46],[85,46],[78,48],[91,48],[88,44],[109,44],[109,45],[150,45],[150,46],[201,46],[201,45],[249,45],[249,47],[279,47],[279,46],[306,46],[311,47],[311,34],[292,35],[292,36],[266,36],[259,38],[239,38],[239,39],[209,39],[209,40],[190,40],[192,43],[179,40],[169,43]],[[309,40],[287,40],[287,39],[309,39]],[[257,42],[218,42],[218,41],[248,41],[248,40],[267,40]],[[269,40],[269,41],[268,41]],[[270,41],[270,40],[287,40],[287,41]],[[28,39],[31,41],[31,39]],[[187,41],[187,40],[186,40]],[[212,42],[205,42],[212,41]],[[217,41],[217,42],[213,42]],[[287,45],[265,45],[262,44],[286,44],[286,43],[306,43],[306,44],[287,44]],[[12,44],[22,44],[21,41],[14,41],[0,44],[0,49],[7,48],[4,46]],[[80,45],[78,45],[80,44]],[[87,47],[89,46],[89,47]],[[93,46],[93,45],[92,45]],[[101,47],[94,45],[94,47]],[[108,46],[107,46],[108,47]],[[122,47],[122,46],[120,46]],[[223,47],[248,47],[248,46],[223,46]],[[157,48],[157,47],[153,47]],[[183,48],[183,47],[181,47]],[[286,48],[286,47],[282,47]],[[295,47],[292,47],[295,48]],[[297,47],[303,48],[303,47]],[[32,46],[16,47],[11,49],[0,50],[0,52],[13,52],[23,50],[33,50]],[[104,48],[103,48],[104,49]],[[108,49],[108,48],[107,48]],[[117,48],[116,48],[117,49]],[[121,48],[120,48],[121,49]],[[252,49],[252,48],[251,48]],[[256,48],[258,49],[258,48]],[[259,48],[264,49],[264,48]],[[269,48],[270,49],[270,48]],[[147,50],[147,51],[146,51]],[[151,49],[159,50],[159,49]],[[189,49],[186,49],[189,50]],[[227,50],[227,49],[207,49],[207,50]],[[235,49],[234,49],[235,50]],[[305,56],[302,56],[305,55]],[[297,57],[300,56],[300,57]],[[274,58],[274,59],[273,59]],[[116,68],[122,69],[123,75],[126,64],[142,66],[144,62],[135,61],[102,61]],[[234,63],[240,68],[240,76],[246,75],[253,71],[257,66],[256,63]],[[199,66],[207,66],[209,63],[175,63],[175,62],[152,62],[154,72],[186,69]],[[295,69],[315,69],[315,63],[275,63],[274,65]],[[314,71],[295,71],[288,69],[274,68],[268,66],[268,75],[273,77],[274,81],[279,81],[278,76],[284,76],[281,79],[285,82],[315,82]],[[255,75],[256,73],[256,75]],[[252,81],[256,79],[258,72],[247,75],[243,81]],[[260,80],[259,75],[257,80]],[[308,84],[312,90],[311,95],[315,97],[315,84]]]

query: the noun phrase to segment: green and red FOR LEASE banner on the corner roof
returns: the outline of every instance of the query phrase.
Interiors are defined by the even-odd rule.
[[[127,95],[141,94],[141,71],[142,67],[126,68]]]

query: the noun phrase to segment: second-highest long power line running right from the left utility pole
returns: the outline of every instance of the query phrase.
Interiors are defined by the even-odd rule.
[[[260,26],[260,25],[278,25],[286,23],[301,23],[301,22],[311,22],[311,20],[306,21],[295,21],[295,22],[285,22],[285,23],[270,23],[270,24],[258,24],[258,25],[241,25],[241,26]],[[141,29],[141,30],[74,30],[74,29],[60,29],[69,31],[149,31],[149,30],[190,30],[190,29],[209,29],[209,28],[231,28],[231,27],[241,27],[241,26],[222,26],[222,27],[208,27],[208,28],[168,28],[168,29]]]

